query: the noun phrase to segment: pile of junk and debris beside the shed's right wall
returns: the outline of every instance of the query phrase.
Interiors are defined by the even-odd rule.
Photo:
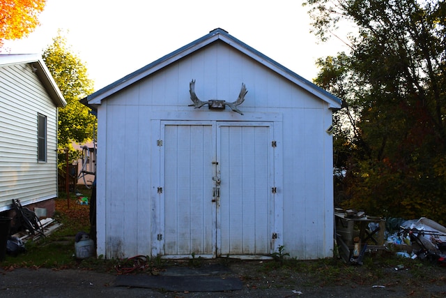
[[[446,266],[446,228],[429,218],[384,219],[336,208],[334,219],[338,252],[344,262],[361,265],[364,253],[385,249]]]

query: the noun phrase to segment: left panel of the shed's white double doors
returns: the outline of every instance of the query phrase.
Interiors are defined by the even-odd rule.
[[[164,255],[215,255],[213,126],[164,126]]]

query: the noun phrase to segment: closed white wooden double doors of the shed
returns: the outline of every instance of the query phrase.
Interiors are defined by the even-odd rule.
[[[272,124],[166,122],[162,130],[162,254],[269,254]]]

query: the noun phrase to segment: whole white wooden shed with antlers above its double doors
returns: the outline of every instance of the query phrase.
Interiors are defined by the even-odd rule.
[[[215,29],[83,101],[98,255],[332,255],[339,98]]]

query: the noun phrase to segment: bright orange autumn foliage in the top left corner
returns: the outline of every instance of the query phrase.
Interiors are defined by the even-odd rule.
[[[38,26],[46,0],[0,1],[0,47],[3,40],[28,36]]]

